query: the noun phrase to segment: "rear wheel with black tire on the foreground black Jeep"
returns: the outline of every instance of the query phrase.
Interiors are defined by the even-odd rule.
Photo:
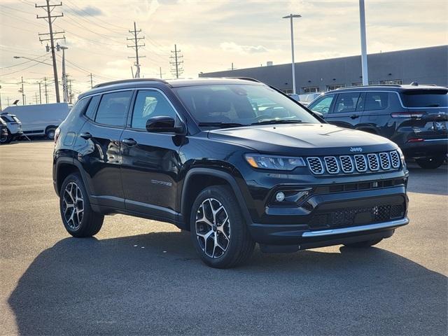
[[[78,189],[73,189],[75,187]],[[78,197],[82,200],[77,200]],[[81,202],[83,211],[79,211]],[[104,216],[94,212],[90,207],[89,197],[79,174],[67,176],[62,183],[59,193],[59,210],[65,230],[73,237],[92,237],[102,228]]]

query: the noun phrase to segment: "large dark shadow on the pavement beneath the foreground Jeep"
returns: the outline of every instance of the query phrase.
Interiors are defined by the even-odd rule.
[[[202,264],[188,232],[66,238],[8,303],[22,335],[444,335],[447,277],[380,248]],[[381,246],[381,244],[379,244]]]

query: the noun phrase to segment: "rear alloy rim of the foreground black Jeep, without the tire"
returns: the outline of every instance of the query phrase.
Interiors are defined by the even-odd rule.
[[[67,225],[78,230],[84,215],[84,200],[80,188],[74,182],[67,184],[62,195],[62,212]]]

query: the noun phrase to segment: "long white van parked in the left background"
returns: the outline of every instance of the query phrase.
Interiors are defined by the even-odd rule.
[[[45,135],[54,139],[55,130],[69,114],[69,104],[36,104],[23,106],[8,106],[3,113],[8,113],[22,122],[24,135]]]

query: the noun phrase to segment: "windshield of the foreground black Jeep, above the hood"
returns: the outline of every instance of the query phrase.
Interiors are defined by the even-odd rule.
[[[176,93],[200,126],[320,123],[288,97],[265,85],[198,85]]]

